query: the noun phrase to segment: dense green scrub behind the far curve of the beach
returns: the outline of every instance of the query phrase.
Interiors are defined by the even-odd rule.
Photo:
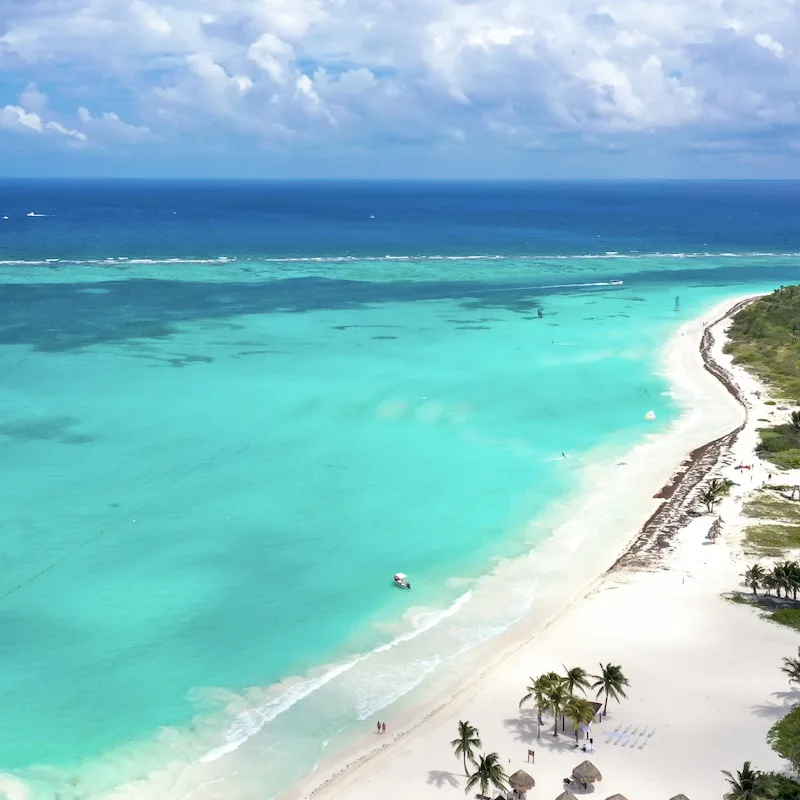
[[[791,403],[800,405],[800,286],[782,286],[733,319],[726,352]],[[767,401],[775,405],[774,401]],[[762,457],[785,469],[800,467],[800,414],[760,431]]]

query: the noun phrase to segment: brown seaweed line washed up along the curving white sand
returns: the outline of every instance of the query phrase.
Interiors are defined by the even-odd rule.
[[[753,298],[741,300],[728,309],[711,325],[706,326],[700,342],[700,355],[706,371],[710,372],[745,410],[747,403],[733,377],[714,360],[711,354],[714,340],[710,328],[722,320],[738,314],[752,302]],[[609,572],[621,569],[641,570],[657,566],[663,551],[670,547],[672,538],[691,519],[689,503],[687,503],[690,495],[700,481],[706,477],[709,470],[717,464],[726,464],[730,461],[733,457],[732,445],[746,424],[747,420],[742,422],[736,430],[706,442],[689,453],[675,474],[655,495],[664,502],[645,522],[630,547],[614,562]]]

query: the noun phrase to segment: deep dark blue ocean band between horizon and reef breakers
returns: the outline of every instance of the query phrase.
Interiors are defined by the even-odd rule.
[[[5,259],[795,252],[800,184],[4,182]],[[52,218],[46,234],[29,212]]]

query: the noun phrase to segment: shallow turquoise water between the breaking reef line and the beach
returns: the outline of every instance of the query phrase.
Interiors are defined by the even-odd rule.
[[[278,792],[512,624],[472,588],[677,417],[670,334],[799,264],[0,268],[0,765],[99,797],[232,759],[251,782],[203,796]]]

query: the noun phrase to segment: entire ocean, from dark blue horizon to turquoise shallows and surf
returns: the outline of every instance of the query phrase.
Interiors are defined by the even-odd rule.
[[[587,471],[679,419],[678,326],[798,280],[798,214],[794,182],[0,183],[0,771],[266,800],[427,702],[543,613]]]

